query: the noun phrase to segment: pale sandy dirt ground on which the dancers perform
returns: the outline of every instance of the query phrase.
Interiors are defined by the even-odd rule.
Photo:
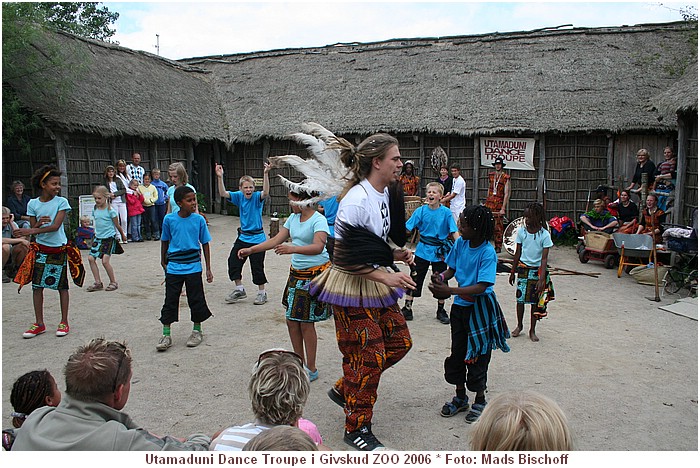
[[[254,306],[250,271],[244,270],[247,302],[224,303],[231,283],[226,258],[238,218],[210,215],[214,283],[206,286],[214,317],[204,323],[205,341],[186,348],[191,325],[186,303],[173,327],[174,346],[158,353],[158,317],[163,300],[159,243],[128,244],[115,256],[115,292],[71,289],[71,333],[22,339],[32,322],[31,289],[17,294],[2,286],[3,427],[10,425],[12,382],[22,373],[48,368],[64,390],[63,365],[70,353],[95,336],[123,339],[135,360],[125,408],[144,427],[161,434],[213,433],[252,419],[246,385],[260,351],[291,348],[280,305],[289,258],[267,254],[270,301]],[[267,225],[267,220],[266,220]],[[85,255],[84,255],[85,258]],[[490,395],[528,388],[554,398],[568,414],[581,450],[698,450],[698,323],[664,312],[649,301],[653,287],[637,284],[601,263],[582,265],[573,248],[554,248],[550,263],[600,272],[600,277],[554,276],[557,294],[550,314],[538,325],[539,343],[527,335],[509,340],[510,353],[494,352]],[[91,275],[85,286],[90,284]],[[515,299],[507,276],[496,293],[511,328]],[[672,302],[663,298],[664,303]],[[58,295],[47,292],[47,324],[58,324]],[[449,327],[435,317],[427,286],[414,303],[410,322],[414,348],[383,376],[375,407],[374,432],[400,450],[466,450],[470,427],[463,417],[438,411],[452,397],[442,377],[449,353]],[[340,353],[332,320],[318,326],[320,378],[312,383],[305,416],[332,448],[342,442],[342,411],[326,396],[340,375]],[[488,396],[488,395],[487,395]]]

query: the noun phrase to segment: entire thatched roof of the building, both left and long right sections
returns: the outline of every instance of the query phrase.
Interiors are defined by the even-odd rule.
[[[696,43],[697,24],[678,22],[171,61],[51,33],[34,45],[61,65],[3,80],[52,125],[105,136],[231,144],[283,138],[309,120],[360,135],[668,132],[677,110],[697,110],[697,69],[679,73]]]

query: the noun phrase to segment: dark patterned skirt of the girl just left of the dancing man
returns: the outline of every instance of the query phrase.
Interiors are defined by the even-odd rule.
[[[330,262],[304,270],[289,268],[287,286],[282,294],[282,305],[286,309],[287,320],[313,323],[326,320],[331,316],[330,304],[319,302],[309,293],[311,280],[329,266]]]

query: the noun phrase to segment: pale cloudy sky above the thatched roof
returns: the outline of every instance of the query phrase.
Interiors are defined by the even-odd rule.
[[[180,59],[395,38],[682,19],[686,2],[104,2],[113,40]],[[156,35],[159,38],[156,38]]]

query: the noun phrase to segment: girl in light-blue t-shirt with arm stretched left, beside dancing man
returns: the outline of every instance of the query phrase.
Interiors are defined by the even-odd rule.
[[[314,324],[329,318],[331,308],[309,294],[309,283],[330,266],[326,251],[329,229],[326,218],[316,211],[313,204],[300,204],[315,194],[290,192],[288,196],[292,214],[277,235],[261,244],[240,249],[238,257],[244,259],[251,254],[271,249],[275,249],[278,255],[292,254],[292,266],[282,294],[282,305],[286,309],[287,330],[294,352],[304,359],[309,380],[313,382],[318,379]],[[292,243],[284,243],[290,237]]]

